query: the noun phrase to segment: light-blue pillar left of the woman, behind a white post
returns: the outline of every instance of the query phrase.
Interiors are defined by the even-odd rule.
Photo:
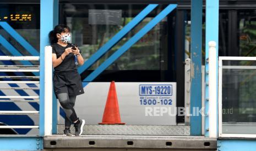
[[[45,135],[45,46],[53,27],[53,0],[40,1],[40,121],[39,134]]]

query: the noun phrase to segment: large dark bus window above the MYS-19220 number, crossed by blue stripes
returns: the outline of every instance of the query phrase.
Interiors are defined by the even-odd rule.
[[[72,28],[72,43],[79,45],[85,60],[126,26],[147,5],[141,4],[71,4],[61,3],[62,24]],[[159,5],[111,48],[108,53],[83,72],[84,79],[108,57],[151,21],[166,5]],[[94,81],[106,82],[174,82],[175,12],[159,22]]]

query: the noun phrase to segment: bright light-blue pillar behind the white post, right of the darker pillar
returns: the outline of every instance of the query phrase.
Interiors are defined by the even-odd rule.
[[[205,31],[205,83],[209,82],[209,64],[208,64],[208,57],[209,57],[209,47],[208,43],[211,40],[214,40],[216,42],[216,56],[218,59],[218,51],[219,51],[219,0],[206,0],[206,16],[205,16],[205,22],[206,22],[206,31]],[[217,71],[217,83],[218,85],[218,61],[216,65],[216,71]],[[218,86],[217,86],[218,88]],[[218,92],[218,91],[217,91]],[[218,95],[216,93],[216,95]],[[209,86],[205,85],[205,114],[208,113],[209,109]],[[217,103],[217,100],[216,100]],[[218,109],[218,104],[217,104]],[[218,111],[216,112],[218,113]],[[217,117],[218,121],[218,117]],[[218,123],[218,122],[217,122]],[[218,124],[217,126],[217,132],[218,132]],[[209,117],[205,116],[205,136],[209,137]]]

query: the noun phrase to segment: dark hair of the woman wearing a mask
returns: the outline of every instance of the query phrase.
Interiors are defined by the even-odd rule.
[[[57,25],[55,26],[54,30],[52,30],[48,36],[50,39],[50,43],[54,44],[58,42],[58,38],[56,36],[57,33],[61,34],[62,32],[70,32],[70,28],[67,25]]]

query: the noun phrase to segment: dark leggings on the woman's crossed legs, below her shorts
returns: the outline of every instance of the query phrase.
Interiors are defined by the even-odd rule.
[[[78,119],[74,110],[76,96],[68,96],[67,93],[57,94],[57,96],[59,103],[61,103],[66,113],[65,127],[70,127],[71,124]]]

